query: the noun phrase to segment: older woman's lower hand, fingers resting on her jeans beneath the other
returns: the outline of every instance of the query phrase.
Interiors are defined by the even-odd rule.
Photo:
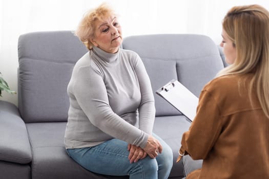
[[[128,144],[128,151],[130,151],[128,159],[130,163],[137,162],[138,160],[144,159],[147,156],[147,152],[141,147],[137,147],[132,144]]]

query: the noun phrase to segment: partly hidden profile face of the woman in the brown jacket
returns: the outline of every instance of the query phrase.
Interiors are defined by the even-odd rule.
[[[233,41],[228,37],[226,32],[222,30],[222,41],[220,46],[223,47],[223,53],[225,55],[225,61],[228,64],[233,64],[236,59],[236,49]]]

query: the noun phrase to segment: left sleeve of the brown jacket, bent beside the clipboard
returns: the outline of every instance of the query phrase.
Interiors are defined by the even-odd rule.
[[[189,131],[184,132],[180,153],[189,153],[192,159],[205,159],[221,132],[220,110],[214,96],[202,91],[196,117]]]

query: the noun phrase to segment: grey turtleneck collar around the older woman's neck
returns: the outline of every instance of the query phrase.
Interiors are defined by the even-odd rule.
[[[116,62],[118,59],[119,51],[117,53],[112,54],[95,46],[93,47],[92,51],[98,58],[100,58],[102,61],[105,61],[107,63]]]

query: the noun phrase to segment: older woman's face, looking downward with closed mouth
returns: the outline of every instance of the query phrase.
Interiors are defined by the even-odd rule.
[[[104,21],[96,21],[91,42],[108,53],[116,53],[122,43],[121,27],[117,18],[111,16]]]

